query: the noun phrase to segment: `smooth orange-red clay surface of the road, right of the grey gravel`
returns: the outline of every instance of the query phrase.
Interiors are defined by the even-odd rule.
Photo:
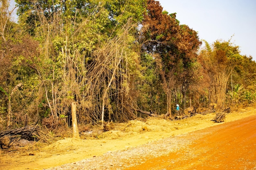
[[[186,148],[125,170],[256,170],[256,116],[187,135]]]

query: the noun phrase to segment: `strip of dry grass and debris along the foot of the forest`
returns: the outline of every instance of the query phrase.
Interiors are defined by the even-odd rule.
[[[162,137],[170,135],[181,135],[183,133],[200,130],[206,127],[218,125],[213,123],[211,119],[215,117],[215,113],[207,115],[197,114],[181,120],[166,120],[162,117],[148,117],[141,120],[132,120],[126,123],[111,123],[109,124],[109,131],[104,132],[102,126],[80,125],[79,131],[81,139],[73,139],[72,129],[58,128],[54,131],[42,131],[40,141],[33,146],[24,146],[16,148],[15,150],[1,150],[1,155],[29,155],[36,152],[50,152],[52,154],[62,152],[67,149],[75,149],[79,146],[90,145],[97,141],[97,143],[104,143],[106,141],[117,140],[135,140],[136,137],[143,136],[146,140],[157,140]],[[255,109],[252,107],[237,108],[227,114],[225,121],[234,121],[242,117],[255,115]],[[157,135],[156,135],[157,134]],[[86,140],[84,140],[86,139]],[[77,147],[75,147],[77,146]]]

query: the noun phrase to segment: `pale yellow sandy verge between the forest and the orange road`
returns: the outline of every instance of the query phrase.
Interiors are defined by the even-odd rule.
[[[256,115],[256,110],[254,108],[240,109],[229,113],[226,117],[225,122],[231,122],[252,115]],[[172,146],[175,146],[176,149],[184,148],[185,146],[184,149],[186,149],[186,144],[190,144],[189,142],[192,142],[191,144],[197,143],[195,142],[195,140],[198,137],[196,137],[196,135],[193,135],[193,133],[191,132],[195,132],[215,125],[225,124],[225,122],[220,124],[213,123],[213,121],[211,121],[213,117],[214,114],[195,115],[194,117],[190,117],[188,119],[176,121],[169,121],[161,118],[151,117],[144,121],[134,120],[129,121],[126,124],[115,124],[114,129],[108,132],[85,132],[82,137],[86,139],[67,138],[57,141],[49,146],[39,148],[38,150],[35,150],[34,148],[20,148],[18,152],[2,151],[0,153],[0,165],[2,170],[42,170],[45,168],[60,166],[65,163],[81,161],[83,159],[92,159],[102,156],[104,156],[103,159],[110,156],[114,157],[114,152],[121,153],[124,151],[131,151],[132,148],[137,148],[138,150],[138,148],[140,148],[141,146],[144,147],[145,144],[148,144],[148,147],[150,147],[154,142],[154,146],[157,146],[159,144],[159,147],[166,147],[164,145],[160,146],[160,143],[166,143],[166,140],[169,140],[170,137],[172,142],[175,140],[177,141],[177,145]],[[207,132],[207,129],[205,130],[205,132]],[[193,136],[193,141],[184,140],[183,136],[180,136],[186,135],[188,133],[190,133],[189,135],[191,137]],[[97,137],[97,139],[95,139],[95,137]],[[208,143],[211,144],[210,141],[208,141]],[[183,145],[180,146],[179,144]],[[256,147],[254,146],[254,148]],[[134,151],[135,150],[133,150],[133,152]],[[166,151],[168,151],[168,153],[171,152],[170,150]],[[172,152],[172,154],[182,154],[176,151]],[[225,150],[223,152],[225,152]],[[145,155],[146,153],[143,153],[143,150],[141,150],[141,154]],[[187,154],[189,154],[189,152],[187,152]],[[207,152],[205,154],[207,154]],[[215,152],[214,154],[218,153]],[[155,157],[161,157],[161,155],[155,155]],[[173,156],[169,155],[168,157]],[[221,157],[216,156],[216,161],[218,161],[217,158],[221,159]],[[116,157],[115,159],[118,159],[118,157]],[[191,163],[193,163],[197,159],[202,158],[195,157],[195,159],[191,160]],[[154,160],[150,161],[152,162]],[[139,162],[134,166],[139,166],[140,163],[143,162]],[[205,166],[207,167],[207,164],[205,164]],[[216,165],[216,167],[218,168],[218,165]],[[124,167],[122,167],[121,169],[124,169]],[[165,167],[163,169],[169,168]]]

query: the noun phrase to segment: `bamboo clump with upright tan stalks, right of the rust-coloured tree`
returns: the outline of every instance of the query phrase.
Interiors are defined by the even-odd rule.
[[[210,79],[209,103],[215,103],[223,108],[226,106],[227,90],[233,88],[232,84],[236,83],[232,75],[234,68],[238,68],[242,56],[239,46],[234,46],[230,40],[223,42],[217,40],[213,48],[205,43],[207,49],[200,52],[200,63]]]

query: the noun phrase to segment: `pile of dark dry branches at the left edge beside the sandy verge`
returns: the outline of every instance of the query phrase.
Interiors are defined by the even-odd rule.
[[[0,132],[0,148],[7,149],[11,146],[31,145],[34,141],[40,140],[39,136],[40,128],[38,125],[29,125]]]

